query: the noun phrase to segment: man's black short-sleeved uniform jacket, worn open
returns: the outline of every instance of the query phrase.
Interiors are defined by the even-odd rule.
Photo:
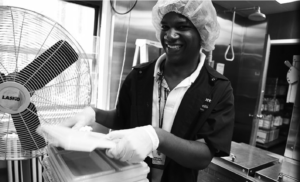
[[[151,125],[155,62],[134,67],[123,82],[116,109],[118,123],[123,124],[120,129]],[[209,148],[217,151],[215,156],[224,156],[230,152],[233,124],[231,84],[205,63],[181,101],[171,133],[187,140],[204,138]],[[151,159],[145,161],[151,168]],[[194,182],[197,174],[167,157],[162,181]]]

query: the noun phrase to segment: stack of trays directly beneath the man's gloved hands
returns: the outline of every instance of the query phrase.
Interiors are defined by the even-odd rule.
[[[66,151],[49,147],[43,163],[46,182],[147,182],[146,163],[129,164],[107,157],[103,150]]]

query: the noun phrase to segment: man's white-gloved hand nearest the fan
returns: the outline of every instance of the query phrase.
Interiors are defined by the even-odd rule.
[[[91,107],[84,108],[81,112],[76,114],[59,125],[71,127],[72,129],[79,130],[80,128],[95,123],[95,111]]]

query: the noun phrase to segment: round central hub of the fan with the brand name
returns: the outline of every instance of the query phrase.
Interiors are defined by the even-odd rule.
[[[0,84],[0,110],[16,114],[27,109],[30,103],[28,90],[17,82],[8,81]]]

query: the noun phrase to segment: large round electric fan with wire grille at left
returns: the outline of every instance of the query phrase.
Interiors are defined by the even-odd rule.
[[[44,155],[40,124],[57,124],[90,104],[87,56],[55,21],[0,6],[0,160]]]

